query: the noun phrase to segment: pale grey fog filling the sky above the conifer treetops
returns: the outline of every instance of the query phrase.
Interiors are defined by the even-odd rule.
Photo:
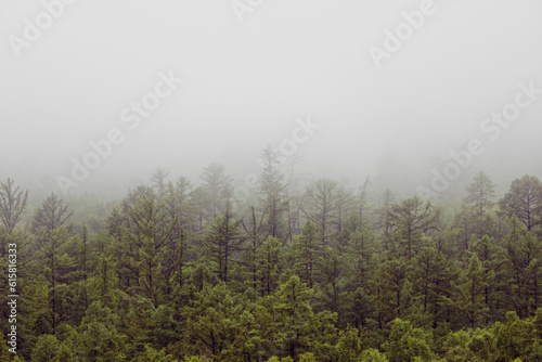
[[[0,22],[0,179],[31,190],[115,196],[211,161],[238,186],[268,145],[403,194],[542,177],[537,0],[1,0]]]

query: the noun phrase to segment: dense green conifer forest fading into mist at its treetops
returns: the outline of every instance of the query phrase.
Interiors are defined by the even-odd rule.
[[[107,204],[0,184],[1,361],[542,361],[542,183],[461,199],[367,180],[257,193],[158,169]],[[382,186],[382,185],[380,185]],[[16,245],[16,353],[10,245]]]

